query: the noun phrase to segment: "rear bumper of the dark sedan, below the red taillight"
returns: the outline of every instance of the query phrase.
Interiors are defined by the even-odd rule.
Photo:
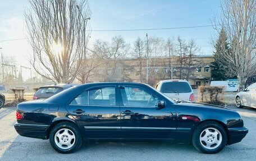
[[[47,139],[48,125],[33,125],[25,123],[15,123],[14,128],[18,134],[25,137],[33,137],[38,139]]]

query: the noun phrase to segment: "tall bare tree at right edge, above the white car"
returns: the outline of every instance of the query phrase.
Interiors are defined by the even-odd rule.
[[[223,0],[220,26],[227,34],[230,52],[226,52],[223,40],[222,61],[231,75],[237,75],[239,91],[245,87],[248,77],[256,73],[256,1]],[[222,28],[217,29],[221,31]]]

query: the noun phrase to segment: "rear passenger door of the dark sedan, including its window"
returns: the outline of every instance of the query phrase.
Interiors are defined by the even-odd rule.
[[[120,138],[120,107],[116,102],[116,86],[87,89],[67,105],[86,138]]]

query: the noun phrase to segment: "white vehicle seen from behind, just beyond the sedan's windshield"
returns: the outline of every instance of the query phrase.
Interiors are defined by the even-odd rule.
[[[188,81],[164,80],[158,82],[156,89],[171,99],[194,101],[194,93]]]

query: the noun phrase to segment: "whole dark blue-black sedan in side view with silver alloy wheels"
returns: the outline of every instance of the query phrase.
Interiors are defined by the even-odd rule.
[[[239,113],[227,108],[176,103],[145,84],[105,82],[62,91],[44,101],[17,105],[21,136],[49,139],[60,153],[85,140],[190,142],[213,154],[248,133]]]

